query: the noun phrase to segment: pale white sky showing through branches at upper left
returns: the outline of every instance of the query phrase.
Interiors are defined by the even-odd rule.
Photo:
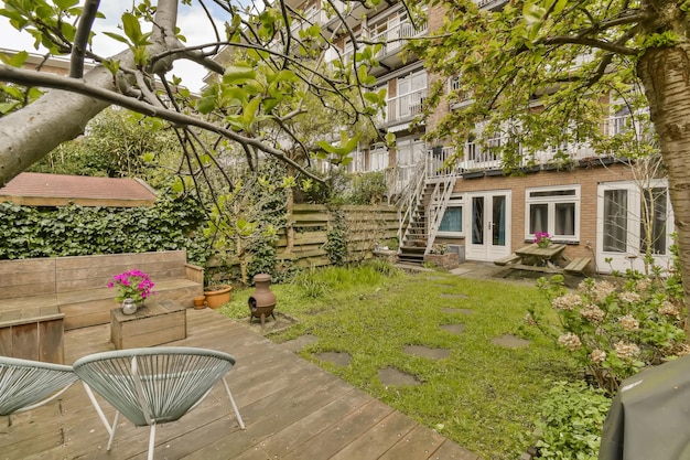
[[[195,3],[195,2],[194,2]],[[117,22],[121,17],[125,8],[130,4],[129,2],[120,1],[104,1],[100,2],[100,11],[106,15],[106,19],[97,19],[94,24],[94,31],[97,33],[94,38],[94,51],[101,56],[110,56],[117,54],[123,50],[125,44],[109,39],[103,33],[103,31],[116,32],[122,34],[121,31],[116,29]],[[212,10],[216,18],[222,18],[224,11],[219,9]],[[225,17],[223,17],[225,19]],[[220,21],[216,21],[220,23]],[[186,44],[203,44],[215,42],[215,35],[213,28],[209,26],[204,11],[196,7],[180,7],[177,26],[182,34],[186,38]],[[223,26],[220,26],[220,33],[223,33]],[[33,46],[33,38],[26,32],[18,32],[9,23],[9,20],[4,17],[0,17],[0,49],[13,50],[13,51],[26,51],[29,53],[42,54],[45,50],[35,50]],[[192,62],[177,62],[172,71],[172,74],[179,76],[183,81],[183,85],[188,87],[193,92],[198,92],[203,83],[203,77],[206,75],[206,71],[197,64]]]

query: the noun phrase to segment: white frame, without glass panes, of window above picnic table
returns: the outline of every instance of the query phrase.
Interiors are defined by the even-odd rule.
[[[558,192],[558,191],[574,191],[570,195],[552,195],[552,196],[531,196],[532,193],[543,192]],[[574,223],[573,235],[558,235],[556,234],[556,205],[560,203],[574,203]],[[548,222],[547,232],[551,235],[552,240],[563,243],[576,243],[580,242],[580,204],[581,204],[581,191],[579,184],[568,185],[553,185],[553,186],[536,186],[525,189],[525,239],[533,239],[535,234],[530,233],[529,224],[531,222],[531,206],[532,204],[546,204]]]

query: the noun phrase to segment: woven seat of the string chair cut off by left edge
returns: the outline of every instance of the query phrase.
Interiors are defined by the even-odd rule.
[[[72,366],[0,356],[0,416],[50,403],[76,379]]]

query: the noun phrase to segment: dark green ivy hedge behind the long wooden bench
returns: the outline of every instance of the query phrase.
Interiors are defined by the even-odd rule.
[[[0,259],[186,249],[205,264],[205,215],[192,199],[161,192],[154,206],[20,206],[0,203]]]

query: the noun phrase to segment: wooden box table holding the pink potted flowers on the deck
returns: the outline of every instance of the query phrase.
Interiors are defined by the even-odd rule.
[[[154,346],[186,339],[186,310],[172,300],[151,301],[133,314],[110,310],[110,341],[118,350]]]

